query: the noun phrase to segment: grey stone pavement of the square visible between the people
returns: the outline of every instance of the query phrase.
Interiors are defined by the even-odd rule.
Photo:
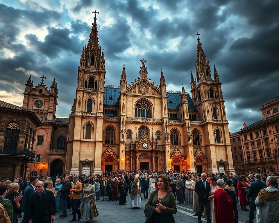
[[[130,208],[130,196],[127,196],[127,204],[119,205],[117,201],[109,201],[108,197],[105,197],[105,201],[96,202],[99,216],[93,219],[94,223],[99,222],[113,222],[113,223],[144,223],[146,217],[144,216],[144,205],[146,200],[142,200],[142,207],[140,209]],[[248,209],[248,206],[247,206]],[[177,213],[174,215],[176,223],[196,223],[198,222],[198,217],[193,216],[193,208],[191,204],[177,205]],[[68,211],[68,216],[65,218],[60,218],[59,215],[62,211],[58,211],[55,216],[54,223],[65,223],[72,219],[71,211]],[[240,206],[238,206],[239,213],[239,223],[244,223],[245,219],[249,218],[249,211],[241,211]],[[19,221],[20,223],[21,221]],[[78,222],[78,221],[75,221]],[[85,222],[81,219],[79,222]],[[202,218],[202,222],[206,222]]]

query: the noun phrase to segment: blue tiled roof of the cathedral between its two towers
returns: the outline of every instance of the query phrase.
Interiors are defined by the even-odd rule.
[[[118,97],[120,94],[120,88],[115,87],[105,87],[104,88],[104,105],[117,105],[118,106]],[[112,99],[110,99],[110,96],[112,96]],[[178,109],[178,105],[180,104],[180,93],[168,93],[168,102],[167,106],[168,109]],[[188,110],[191,111],[197,111],[194,102],[189,94],[187,94],[187,100],[188,100]],[[171,102],[172,103],[171,103]]]

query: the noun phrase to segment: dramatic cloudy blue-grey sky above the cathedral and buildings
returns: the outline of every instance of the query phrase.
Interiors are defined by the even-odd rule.
[[[87,43],[93,10],[106,61],[106,84],[148,77],[167,89],[190,91],[195,71],[195,33],[217,67],[233,132],[262,118],[260,105],[279,95],[279,1],[0,0],[0,100],[22,106],[26,80],[45,75],[58,82],[58,117],[69,117],[77,67]]]

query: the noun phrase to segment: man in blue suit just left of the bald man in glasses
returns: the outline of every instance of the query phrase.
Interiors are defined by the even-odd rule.
[[[35,185],[38,182],[39,177],[30,177],[29,179],[29,184],[26,186],[24,189],[24,195],[23,195],[23,218],[22,218],[22,223],[27,223],[28,222],[28,210],[29,210],[29,205],[31,201],[31,195],[36,192],[35,190]]]

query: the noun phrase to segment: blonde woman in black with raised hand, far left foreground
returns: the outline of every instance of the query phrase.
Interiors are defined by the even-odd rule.
[[[21,215],[23,212],[22,208],[22,195],[19,194],[19,184],[11,183],[8,188],[8,193],[5,196],[6,199],[9,199],[12,202],[12,207],[14,210],[14,219],[12,223],[18,223],[18,215]]]

